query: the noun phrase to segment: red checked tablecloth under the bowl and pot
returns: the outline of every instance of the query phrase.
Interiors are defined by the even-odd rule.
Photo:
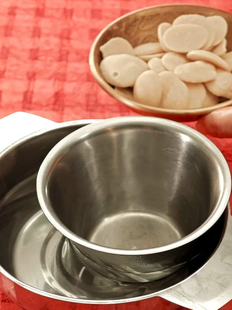
[[[91,43],[105,25],[128,11],[180,2],[232,13],[232,0],[0,0],[0,117],[25,111],[65,122],[135,114],[92,78]],[[232,140],[213,141],[232,166]],[[231,308],[232,302],[223,310]],[[0,294],[0,310],[16,309]],[[155,309],[183,310],[162,299]]]

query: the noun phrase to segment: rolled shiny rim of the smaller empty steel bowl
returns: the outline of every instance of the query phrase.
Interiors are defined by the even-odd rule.
[[[142,249],[142,250],[122,250],[122,249],[115,249],[105,246],[97,245],[93,242],[87,241],[84,238],[77,236],[71,230],[69,230],[58,218],[55,214],[52,204],[49,199],[48,191],[47,191],[47,184],[49,180],[49,176],[52,171],[52,167],[58,161],[62,155],[67,153],[69,149],[77,144],[85,140],[86,138],[92,136],[93,134],[97,134],[98,132],[104,131],[106,129],[118,126],[150,126],[153,127],[154,125],[159,125],[165,128],[172,128],[176,132],[179,132],[187,137],[190,137],[194,140],[197,140],[204,147],[208,148],[208,151],[213,153],[214,157],[217,158],[217,164],[220,170],[220,179],[219,182],[221,184],[221,188],[223,190],[220,193],[216,206],[214,206],[211,214],[208,218],[201,224],[197,229],[193,232],[188,234],[187,236],[172,242],[168,245],[158,246],[149,249]],[[226,162],[225,157],[222,155],[220,150],[216,147],[213,142],[211,142],[208,138],[204,135],[195,131],[194,129],[180,124],[178,122],[170,121],[168,119],[158,118],[158,117],[148,117],[148,116],[124,116],[124,117],[114,117],[109,118],[106,120],[102,120],[100,122],[96,122],[87,126],[84,126],[70,135],[63,138],[58,144],[52,148],[52,150],[47,154],[44,161],[42,162],[38,175],[37,175],[37,197],[43,210],[45,216],[49,220],[49,222],[59,231],[73,241],[76,244],[84,246],[86,248],[90,248],[92,250],[97,250],[100,252],[105,252],[109,254],[116,254],[116,255],[149,255],[159,252],[164,252],[168,250],[175,249],[177,247],[183,246],[196,238],[200,237],[204,232],[206,232],[209,228],[213,226],[225,210],[227,203],[230,198],[231,192],[231,175],[229,166]]]

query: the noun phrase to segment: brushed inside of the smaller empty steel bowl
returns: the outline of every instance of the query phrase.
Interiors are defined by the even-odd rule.
[[[49,212],[78,237],[108,248],[155,248],[191,234],[215,211],[223,168],[205,141],[170,123],[89,132],[64,139],[43,167]]]

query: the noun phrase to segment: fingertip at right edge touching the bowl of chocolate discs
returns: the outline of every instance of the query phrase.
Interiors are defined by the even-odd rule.
[[[232,138],[232,107],[215,110],[201,117],[196,130],[217,138]]]

